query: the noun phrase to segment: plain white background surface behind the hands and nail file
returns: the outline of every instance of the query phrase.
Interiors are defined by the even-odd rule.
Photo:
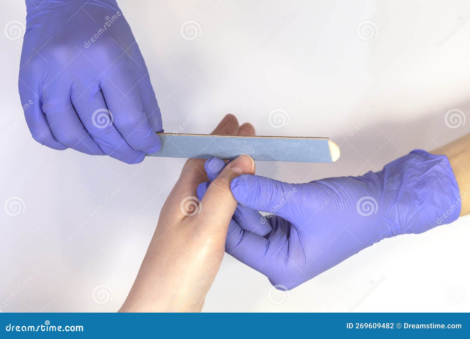
[[[1,6],[1,27],[25,23],[23,1]],[[260,175],[289,182],[360,175],[470,130],[470,122],[455,129],[444,123],[449,109],[470,111],[470,22],[450,33],[469,15],[468,1],[121,0],[120,7],[147,62],[166,131],[207,100],[185,132],[209,132],[233,113],[260,135],[329,137],[341,147],[335,164],[258,162]],[[200,23],[198,39],[180,35],[187,20]],[[374,38],[359,39],[363,20],[376,24]],[[0,126],[20,104],[21,46],[22,39],[0,34]],[[382,100],[384,107],[351,137],[370,105]],[[275,108],[289,113],[287,126],[269,125]],[[1,204],[11,196],[25,201],[19,216],[0,209],[0,304],[18,280],[32,278],[3,311],[116,311],[184,160],[147,158],[130,166],[55,151],[33,141],[23,115],[0,135],[0,152]],[[118,187],[118,196],[85,224]],[[385,239],[280,296],[280,305],[270,301],[266,277],[226,255],[204,311],[347,312],[371,280],[384,278],[356,311],[468,312],[469,220]],[[99,305],[92,292],[102,284],[113,299]],[[446,295],[454,284],[461,286],[456,304],[455,295]]]

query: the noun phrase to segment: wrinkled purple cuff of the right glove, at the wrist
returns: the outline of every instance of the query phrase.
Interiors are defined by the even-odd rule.
[[[395,199],[387,216],[397,221],[397,234],[421,233],[459,217],[461,193],[445,155],[414,150],[379,174],[385,179],[384,198]]]

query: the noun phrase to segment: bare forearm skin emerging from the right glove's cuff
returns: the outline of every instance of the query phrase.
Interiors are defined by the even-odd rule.
[[[432,150],[432,154],[445,155],[449,159],[461,194],[460,216],[470,214],[470,133]]]

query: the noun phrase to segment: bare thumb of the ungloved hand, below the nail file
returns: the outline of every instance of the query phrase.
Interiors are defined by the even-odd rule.
[[[241,174],[254,173],[255,162],[246,154],[240,155],[230,162],[207,188],[201,200],[201,213],[197,215],[201,222],[208,225],[223,225],[224,229],[217,227],[217,231],[227,233],[228,223],[232,219],[237,205],[230,183],[232,179]]]

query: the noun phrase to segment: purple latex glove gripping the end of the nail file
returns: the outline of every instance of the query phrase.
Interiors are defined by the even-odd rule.
[[[32,137],[137,163],[160,149],[149,72],[115,0],[26,0],[18,87]]]

